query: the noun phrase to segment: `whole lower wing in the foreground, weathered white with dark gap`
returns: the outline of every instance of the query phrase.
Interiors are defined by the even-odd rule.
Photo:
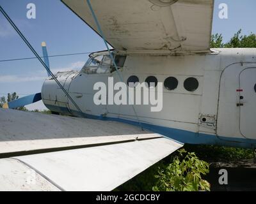
[[[182,147],[120,122],[0,115],[0,191],[110,191]]]

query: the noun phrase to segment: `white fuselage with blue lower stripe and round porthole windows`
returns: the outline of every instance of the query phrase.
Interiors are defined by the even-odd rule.
[[[81,108],[84,116],[134,123],[185,143],[209,143],[250,147],[256,141],[256,49],[212,49],[211,54],[157,55],[128,54],[120,74],[145,82],[175,77],[177,88],[163,87],[163,110],[150,112],[150,105],[95,105],[93,85],[120,79],[115,72],[88,74],[83,71],[58,73],[58,80]],[[198,88],[188,91],[187,78],[195,78]],[[54,80],[42,87],[45,106],[54,112],[79,114]],[[137,116],[136,116],[137,115]]]

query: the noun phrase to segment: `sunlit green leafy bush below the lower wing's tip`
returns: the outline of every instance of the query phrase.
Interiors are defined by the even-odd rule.
[[[185,156],[184,156],[185,154]],[[179,150],[166,168],[159,168],[158,180],[153,191],[210,191],[210,184],[202,179],[209,173],[209,164],[196,157],[195,153]]]

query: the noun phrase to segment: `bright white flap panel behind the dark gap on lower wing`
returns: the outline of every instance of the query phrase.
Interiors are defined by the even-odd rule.
[[[158,138],[15,157],[40,172],[52,185],[37,174],[36,180],[28,184],[26,166],[12,159],[0,159],[0,189],[111,191],[180,147],[180,143]]]

